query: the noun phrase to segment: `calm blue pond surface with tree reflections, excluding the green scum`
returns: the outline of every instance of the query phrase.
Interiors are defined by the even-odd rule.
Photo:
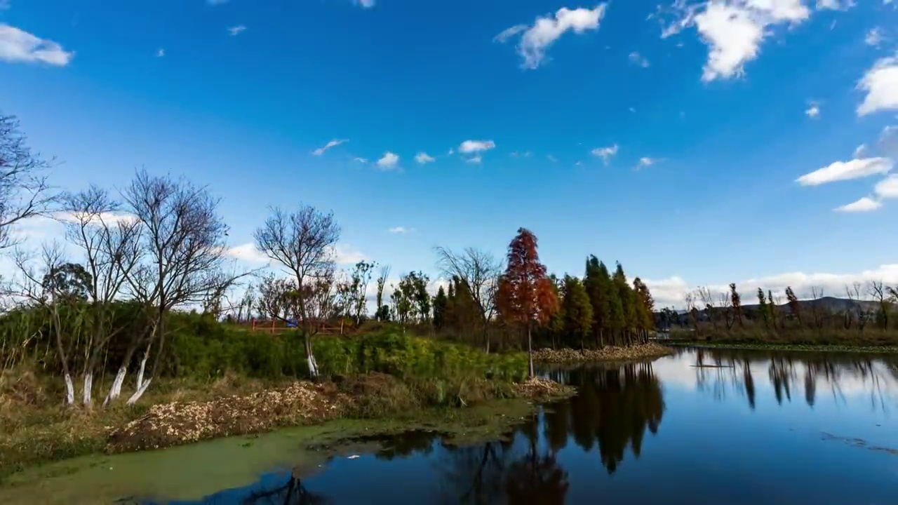
[[[189,503],[898,504],[894,357],[682,350],[543,373],[579,394],[506,439],[409,433]]]

